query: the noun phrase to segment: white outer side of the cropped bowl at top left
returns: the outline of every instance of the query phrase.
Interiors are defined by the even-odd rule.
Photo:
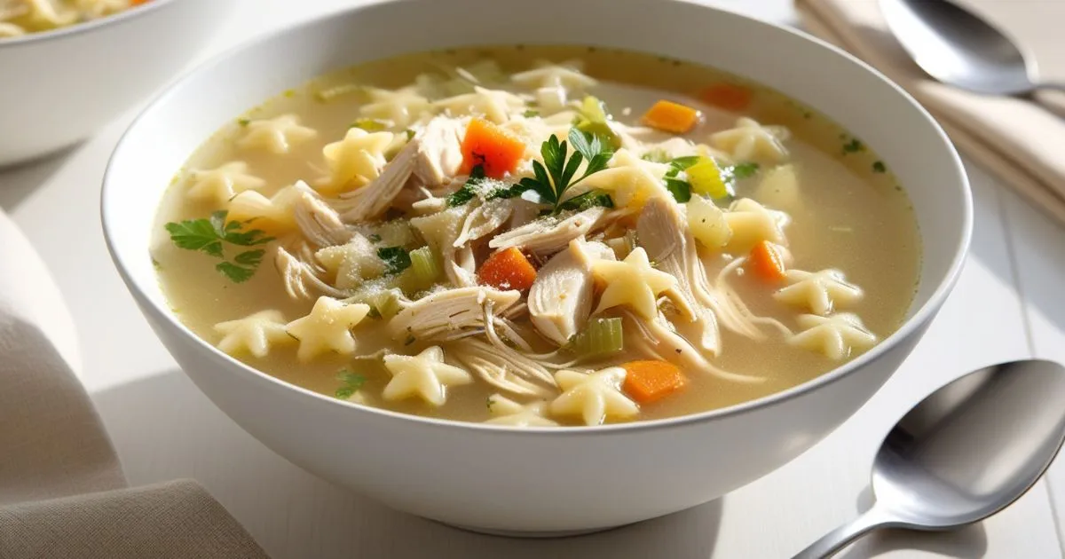
[[[105,17],[0,40],[0,167],[88,137],[175,78],[230,0],[152,0]]]

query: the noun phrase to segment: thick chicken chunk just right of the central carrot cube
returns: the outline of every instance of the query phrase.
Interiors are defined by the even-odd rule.
[[[596,260],[615,260],[613,251],[603,243],[571,241],[540,268],[529,289],[532,326],[559,346],[588,323],[595,287],[592,263]]]

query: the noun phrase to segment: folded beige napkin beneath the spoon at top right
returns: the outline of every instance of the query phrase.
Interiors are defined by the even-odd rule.
[[[1061,0],[953,0],[1019,37],[1041,75],[1065,82]],[[954,145],[1033,205],[1065,224],[1065,99],[985,96],[939,83],[890,34],[876,0],[794,0],[810,33],[850,51],[901,85],[928,109]],[[872,109],[871,109],[872,110]]]

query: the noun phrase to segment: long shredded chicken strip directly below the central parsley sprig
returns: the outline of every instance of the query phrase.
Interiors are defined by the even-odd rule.
[[[488,246],[496,249],[518,247],[539,257],[547,257],[566,248],[574,239],[587,235],[612,215],[617,212],[589,208],[564,218],[545,217],[495,235]]]

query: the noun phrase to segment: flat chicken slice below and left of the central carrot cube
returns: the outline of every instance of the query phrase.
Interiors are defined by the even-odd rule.
[[[394,340],[437,339],[456,330],[485,327],[485,307],[496,314],[505,312],[521,298],[521,292],[491,287],[458,287],[427,295],[389,320],[389,335]]]

